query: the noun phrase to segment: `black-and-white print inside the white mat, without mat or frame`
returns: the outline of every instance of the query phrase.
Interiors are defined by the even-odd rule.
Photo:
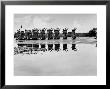
[[[20,13],[13,24],[14,76],[97,76],[97,14]]]

